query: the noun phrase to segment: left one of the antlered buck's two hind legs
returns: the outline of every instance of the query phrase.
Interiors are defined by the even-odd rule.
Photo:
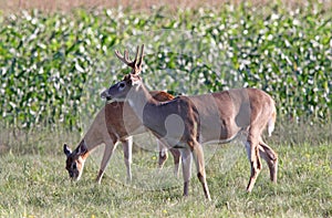
[[[261,163],[259,158],[258,144],[255,141],[246,142],[246,149],[248,154],[248,159],[250,162],[251,174],[247,186],[247,191],[250,193],[255,186],[256,179],[261,170]]]

